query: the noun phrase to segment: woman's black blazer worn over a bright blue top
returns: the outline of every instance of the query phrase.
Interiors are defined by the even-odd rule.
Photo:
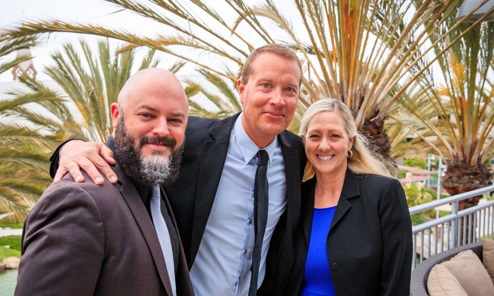
[[[316,178],[302,185],[302,217],[290,291],[303,281]],[[328,264],[336,295],[410,295],[412,222],[398,180],[347,171],[330,226]]]

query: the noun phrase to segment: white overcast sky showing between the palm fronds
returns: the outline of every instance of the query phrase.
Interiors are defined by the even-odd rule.
[[[142,2],[144,2],[146,5],[148,5],[149,3],[149,1],[145,0],[142,0]],[[185,3],[189,1],[180,2],[182,5],[185,5],[185,7],[188,8],[187,4]],[[210,5],[212,5],[213,8],[216,9],[222,17],[231,17],[231,19],[224,19],[226,23],[234,23],[236,14],[228,13],[227,10],[231,8],[225,5],[222,1],[206,0],[205,2],[210,3]],[[246,2],[251,5],[263,1],[246,0]],[[295,12],[296,16],[290,16],[293,9],[295,9],[292,6],[291,1],[287,2],[287,0],[274,0],[274,2],[276,3],[276,6],[281,10],[281,13],[283,15],[287,16],[288,19],[295,21],[294,30],[303,30],[303,25],[296,24],[296,22],[300,18],[298,16],[298,12]],[[157,24],[157,22],[155,21],[148,20],[131,12],[121,11],[121,8],[117,5],[103,0],[0,0],[0,7],[2,8],[0,9],[0,29],[19,25],[22,21],[57,19],[70,22],[81,22],[86,24],[98,24],[108,28],[119,28],[131,33],[137,33],[139,35],[148,37],[153,37],[153,35],[155,35],[156,33],[174,35],[174,32],[171,32],[171,30],[164,25]],[[210,24],[208,23],[208,25]],[[275,37],[275,39],[283,40],[283,37],[280,37],[281,35],[276,35],[276,33],[280,31],[277,29],[276,26],[270,26],[269,24],[267,24],[267,29],[270,34]],[[260,46],[264,44],[264,41],[262,40],[252,40],[255,37],[255,34],[251,32],[251,29],[248,28],[247,25],[243,27],[241,24],[237,29],[237,32],[240,32],[242,36],[249,40],[249,42],[251,42],[254,46]],[[303,35],[300,34],[300,31],[296,33],[298,36]],[[89,45],[96,46],[96,40],[98,38],[101,39],[101,37],[71,33],[55,33],[49,35],[49,37],[46,37],[47,35],[44,36],[45,38],[43,43],[40,46],[32,49],[32,55],[35,57],[34,64],[39,73],[38,78],[41,80],[46,80],[48,78],[46,74],[42,73],[42,70],[44,66],[52,63],[50,54],[53,54],[57,50],[61,50],[63,44],[68,42],[76,43],[83,38],[88,42]],[[224,36],[228,36],[228,34]],[[123,44],[123,41],[112,41],[112,46],[115,49],[118,47],[118,45]],[[183,50],[188,50],[188,53],[194,56],[194,49],[183,48]],[[140,55],[142,56],[146,51],[147,50],[141,50]],[[201,51],[198,50],[198,59],[200,53]],[[159,65],[162,68],[167,69],[174,62],[177,61],[177,58],[175,57],[165,56],[160,52],[157,54],[162,57],[162,63]],[[204,56],[202,57],[204,58]],[[224,60],[214,60],[214,57],[211,57],[211,60],[208,61],[208,63],[208,65],[213,65],[214,67],[224,67]],[[191,75],[196,75],[194,71],[194,68],[196,66],[189,65],[187,67],[188,68],[180,71],[180,73],[178,74],[179,78],[183,78],[184,76],[189,78]],[[0,74],[0,84],[6,81],[12,81],[12,75],[9,71]]]

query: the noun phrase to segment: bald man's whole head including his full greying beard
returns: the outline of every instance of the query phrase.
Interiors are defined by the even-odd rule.
[[[150,68],[132,75],[111,106],[116,154],[134,182],[171,182],[180,166],[189,104],[171,72]]]

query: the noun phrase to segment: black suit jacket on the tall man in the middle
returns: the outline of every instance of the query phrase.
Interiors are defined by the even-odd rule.
[[[174,184],[165,187],[177,215],[189,268],[199,250],[238,116],[222,120],[189,116],[179,177]],[[266,285],[262,289],[270,292],[275,287],[283,289],[289,280],[285,270],[293,264],[293,233],[300,216],[300,184],[306,163],[304,148],[297,135],[284,131],[278,139],[285,160],[288,202],[269,247]],[[277,272],[281,270],[283,272]]]

